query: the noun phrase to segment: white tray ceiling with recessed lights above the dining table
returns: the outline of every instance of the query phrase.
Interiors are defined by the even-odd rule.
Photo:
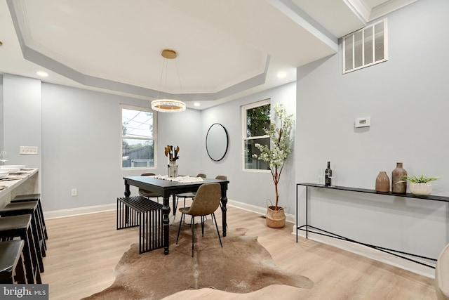
[[[43,81],[138,98],[181,93],[205,108],[295,81],[296,67],[337,53],[338,38],[411,2],[6,0],[0,73],[45,70]],[[178,56],[161,76],[164,48]]]

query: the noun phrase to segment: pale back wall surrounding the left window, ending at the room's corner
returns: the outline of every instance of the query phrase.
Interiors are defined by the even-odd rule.
[[[42,84],[42,195],[46,211],[114,204],[124,192],[123,176],[166,174],[163,148],[180,145],[181,173],[191,174],[199,158],[199,112],[158,115],[156,169],[121,169],[120,104],[149,107],[149,101]],[[182,155],[185,153],[186,155]],[[188,159],[187,159],[188,157]],[[71,196],[72,188],[78,190]],[[136,190],[132,190],[135,193]]]

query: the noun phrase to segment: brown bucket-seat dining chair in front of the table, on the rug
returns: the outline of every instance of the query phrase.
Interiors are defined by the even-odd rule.
[[[220,237],[220,231],[218,230],[217,219],[215,218],[215,211],[220,205],[221,186],[220,183],[204,183],[196,191],[195,201],[192,202],[190,207],[181,207],[179,209],[181,215],[180,227],[177,230],[176,244],[180,237],[180,231],[182,226],[182,220],[185,219],[185,215],[192,216],[192,257],[194,256],[195,247],[195,216],[201,216],[201,233],[204,235],[204,217],[209,214],[212,215],[213,221],[215,221],[215,228],[217,228],[218,240],[220,240],[220,246],[223,247],[222,239]]]

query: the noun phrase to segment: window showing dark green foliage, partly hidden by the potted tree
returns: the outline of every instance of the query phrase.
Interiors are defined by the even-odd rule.
[[[260,154],[255,144],[270,145],[265,129],[270,123],[270,100],[242,106],[243,132],[243,169],[268,170],[269,165],[262,160],[254,159],[253,154]]]

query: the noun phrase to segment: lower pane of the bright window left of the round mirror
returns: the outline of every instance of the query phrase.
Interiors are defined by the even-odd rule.
[[[154,167],[154,141],[123,138],[122,167]]]

